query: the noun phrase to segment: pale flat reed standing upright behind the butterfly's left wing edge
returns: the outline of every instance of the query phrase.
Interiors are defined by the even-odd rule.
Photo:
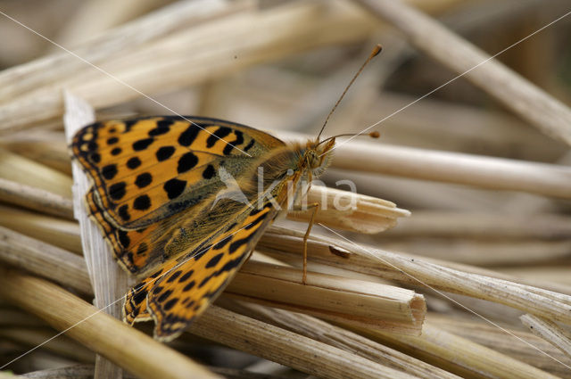
[[[82,127],[95,121],[91,106],[78,97],[65,93],[65,115],[63,123],[68,141]],[[83,256],[95,293],[95,307],[116,318],[122,316],[121,296],[128,290],[127,273],[114,260],[112,248],[103,240],[95,222],[87,216],[85,195],[91,187],[87,175],[77,162],[72,165],[74,186],[74,213],[79,220]],[[100,355],[95,358],[95,379],[120,379],[120,367]]]

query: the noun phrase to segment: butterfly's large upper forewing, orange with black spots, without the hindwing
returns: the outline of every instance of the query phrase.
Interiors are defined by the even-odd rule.
[[[240,177],[248,161],[284,145],[243,125],[186,119],[105,121],[74,136],[73,154],[94,181],[91,196],[113,226],[141,229],[191,209],[224,188],[220,167]]]

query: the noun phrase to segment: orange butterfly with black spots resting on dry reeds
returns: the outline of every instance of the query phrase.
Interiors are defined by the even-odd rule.
[[[93,182],[87,212],[138,280],[125,296],[126,323],[153,320],[154,337],[168,342],[201,315],[264,230],[288,205],[299,206],[327,168],[335,146],[335,136],[319,140],[327,119],[305,144],[192,116],[108,120],[79,130],[70,149]]]

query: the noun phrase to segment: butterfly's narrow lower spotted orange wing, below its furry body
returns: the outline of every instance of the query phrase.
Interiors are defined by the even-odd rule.
[[[222,292],[276,216],[270,202],[261,209],[245,207],[234,223],[131,289],[125,299],[125,321],[152,317],[155,338],[176,338]]]

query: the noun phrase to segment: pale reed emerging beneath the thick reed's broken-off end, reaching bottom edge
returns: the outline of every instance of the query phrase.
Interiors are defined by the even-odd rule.
[[[536,367],[498,351],[426,324],[421,336],[389,334],[359,329],[373,341],[388,344],[426,363],[468,378],[556,379]]]

